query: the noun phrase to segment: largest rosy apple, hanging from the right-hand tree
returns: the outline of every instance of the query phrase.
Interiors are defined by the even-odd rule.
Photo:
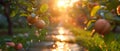
[[[98,32],[99,34],[107,34],[111,30],[111,25],[110,23],[105,20],[105,19],[99,19],[95,22],[95,31]]]

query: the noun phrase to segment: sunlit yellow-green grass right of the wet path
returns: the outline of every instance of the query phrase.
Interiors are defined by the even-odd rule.
[[[110,32],[102,37],[96,33],[94,37],[91,37],[90,31],[76,26],[69,26],[69,28],[76,36],[76,42],[88,51],[119,51],[120,49],[120,34]]]

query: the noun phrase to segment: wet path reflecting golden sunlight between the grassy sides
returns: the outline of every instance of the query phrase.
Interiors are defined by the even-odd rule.
[[[33,43],[28,51],[85,51],[75,43],[75,36],[69,30],[58,27],[46,35],[46,41]]]

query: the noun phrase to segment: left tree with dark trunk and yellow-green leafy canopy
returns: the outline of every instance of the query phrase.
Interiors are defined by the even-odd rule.
[[[13,17],[28,17],[34,14],[48,22],[47,9],[46,0],[0,0],[0,14],[7,18],[8,35],[13,35]]]

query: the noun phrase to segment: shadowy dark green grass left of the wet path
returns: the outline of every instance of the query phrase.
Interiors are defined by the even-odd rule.
[[[47,30],[42,29],[39,32],[40,36],[35,35],[35,30],[36,28],[32,28],[32,29],[28,29],[27,33],[17,33],[13,36],[1,36],[0,49],[5,51],[16,51],[14,47],[6,46],[6,42],[11,41],[11,42],[14,42],[15,44],[22,43],[23,49],[26,51],[34,42],[45,41],[45,35]]]

